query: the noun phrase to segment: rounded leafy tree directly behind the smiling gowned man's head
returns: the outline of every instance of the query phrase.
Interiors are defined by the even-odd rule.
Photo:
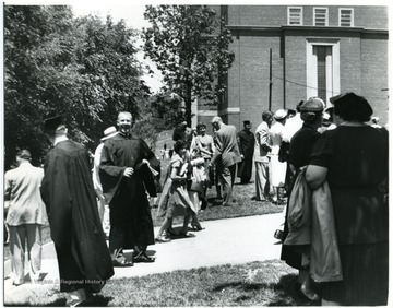
[[[124,21],[114,24],[110,16],[105,24],[96,16],[83,17],[76,23],[85,35],[78,50],[80,73],[88,80],[84,87],[85,105],[97,107],[96,117],[87,118],[95,130],[91,130],[90,135],[98,133],[99,138],[108,123],[116,120],[119,110],[128,110],[134,120],[139,119],[150,90],[141,80],[142,67],[132,44],[136,32],[128,28]]]

